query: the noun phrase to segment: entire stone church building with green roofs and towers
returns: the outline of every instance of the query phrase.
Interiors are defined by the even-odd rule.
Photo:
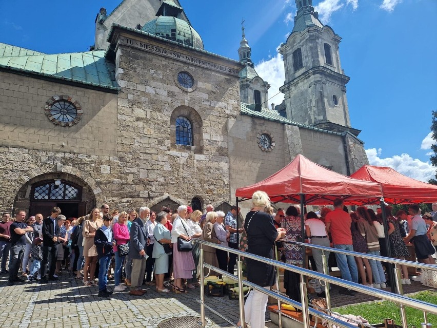
[[[313,9],[302,5],[295,25],[304,11],[318,21]],[[339,38],[328,27],[307,29]],[[286,72],[299,42],[310,55],[316,48],[293,34],[280,50]],[[0,44],[0,210],[48,215],[59,206],[79,216],[103,203],[227,209],[236,188],[298,153],[345,175],[367,163],[338,93],[347,76],[340,66],[316,68],[307,50],[300,76],[286,73],[284,103],[272,109],[244,32],[238,61],[207,52],[177,1],[125,0],[109,15],[102,8],[95,35],[92,51],[71,54]],[[299,89],[308,83],[324,88],[322,98]],[[342,114],[330,114],[330,90]],[[301,114],[305,106],[310,114]]]

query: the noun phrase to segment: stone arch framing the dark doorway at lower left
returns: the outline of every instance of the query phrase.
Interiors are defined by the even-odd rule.
[[[85,211],[95,206],[97,202],[103,202],[102,190],[97,186],[94,179],[86,175],[86,172],[72,166],[57,164],[55,170],[50,166],[31,169],[11,183],[10,192],[15,197],[10,199],[10,204],[7,207],[13,210],[23,208],[29,211],[32,186],[43,181],[53,181],[56,179],[61,179],[67,183],[71,182],[82,189],[82,199],[80,202],[82,202],[81,206],[83,206]]]

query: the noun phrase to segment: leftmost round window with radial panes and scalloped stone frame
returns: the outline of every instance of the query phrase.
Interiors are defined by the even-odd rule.
[[[68,95],[54,95],[44,107],[50,121],[56,125],[72,126],[82,119],[81,105]]]

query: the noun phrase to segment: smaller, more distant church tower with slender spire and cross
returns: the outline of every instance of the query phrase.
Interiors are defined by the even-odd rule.
[[[242,23],[243,24],[243,23]],[[246,65],[239,73],[240,75],[240,100],[242,103],[259,105],[256,108],[268,107],[267,101],[269,99],[268,90],[270,85],[264,82],[256,73],[250,55],[252,49],[246,40],[244,34],[244,26],[242,27],[243,37],[240,41],[240,48],[238,55],[240,63]]]

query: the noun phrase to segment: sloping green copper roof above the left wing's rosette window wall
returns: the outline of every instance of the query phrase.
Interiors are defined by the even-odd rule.
[[[0,57],[0,66],[72,82],[117,89],[115,66],[105,59],[105,51],[103,50]]]

